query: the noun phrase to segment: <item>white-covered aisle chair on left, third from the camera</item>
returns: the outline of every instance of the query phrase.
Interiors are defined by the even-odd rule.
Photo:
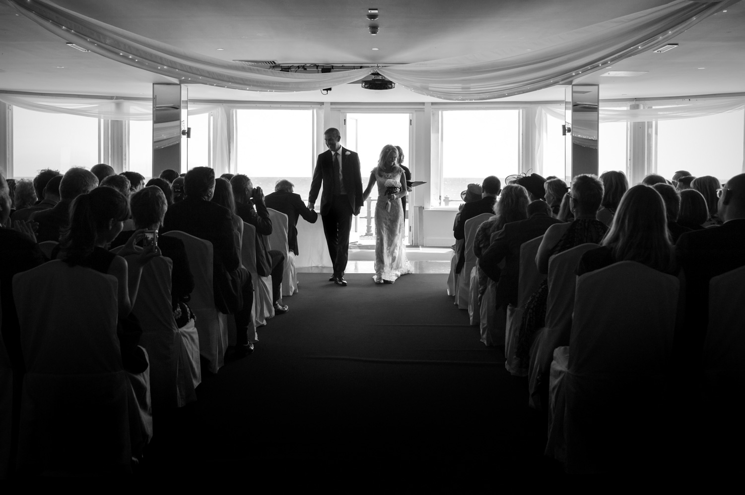
[[[212,242],[181,230],[171,230],[163,235],[181,239],[186,247],[188,266],[191,275],[194,276],[194,291],[191,292],[189,306],[197,317],[199,352],[209,360],[209,371],[217,373],[225,363],[228,327],[226,315],[215,308],[215,289],[212,287]],[[169,298],[168,308],[170,307]]]

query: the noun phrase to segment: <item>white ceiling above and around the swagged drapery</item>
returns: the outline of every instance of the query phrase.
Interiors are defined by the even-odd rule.
[[[406,63],[519,47],[668,3],[668,0],[57,0],[85,16],[221,59],[279,63]],[[367,8],[377,7],[378,36]],[[641,54],[613,65],[641,77],[599,77],[600,97],[644,98],[745,92],[745,1],[682,33],[665,54]],[[223,48],[218,51],[218,48]],[[379,48],[373,51],[372,48]],[[58,68],[61,66],[62,68]],[[700,69],[700,67],[703,67]],[[603,68],[605,71],[606,68]],[[175,82],[102,56],[69,48],[13,7],[0,4],[0,89],[66,94],[150,96],[152,83]],[[562,100],[548,88],[504,100]],[[253,93],[191,85],[193,99],[254,101],[440,101],[405,88],[366,91],[358,84],[328,95]]]

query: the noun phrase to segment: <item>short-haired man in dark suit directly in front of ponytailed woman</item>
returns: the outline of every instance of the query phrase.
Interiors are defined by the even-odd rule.
[[[65,172],[60,182],[60,202],[54,208],[37,211],[31,215],[31,220],[39,223],[37,242],[60,240],[60,230],[69,224],[69,209],[72,200],[78,195],[88,194],[98,187],[98,178],[89,170],[81,166],[73,167]]]

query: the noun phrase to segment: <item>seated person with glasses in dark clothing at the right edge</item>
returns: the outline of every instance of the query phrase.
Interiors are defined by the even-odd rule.
[[[684,233],[675,245],[685,274],[685,337],[696,349],[696,357],[708,323],[711,277],[745,265],[745,174],[729,179],[719,194],[722,226]]]

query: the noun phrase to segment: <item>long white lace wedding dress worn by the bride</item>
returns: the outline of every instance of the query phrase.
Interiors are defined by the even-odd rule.
[[[373,280],[385,280],[393,283],[399,276],[411,273],[411,265],[406,259],[404,246],[404,210],[401,199],[390,201],[390,212],[385,193],[385,181],[401,181],[404,169],[393,166],[390,172],[384,172],[377,166],[373,169],[375,183],[378,186],[378,202],[375,205],[375,276]]]

